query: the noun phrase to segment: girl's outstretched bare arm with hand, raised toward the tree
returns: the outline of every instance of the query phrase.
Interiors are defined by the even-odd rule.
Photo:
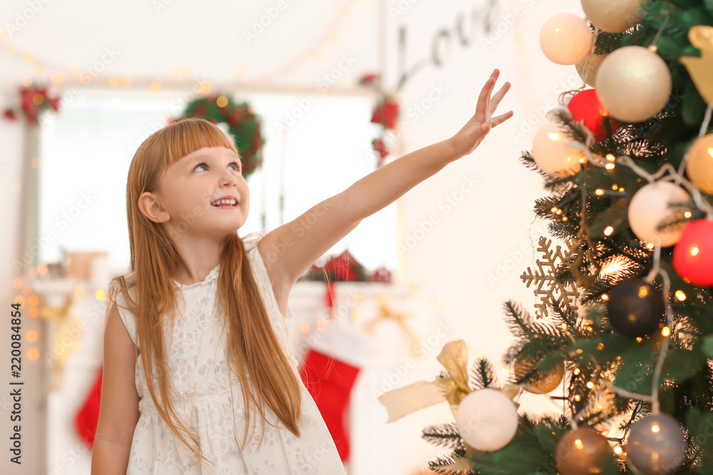
[[[499,75],[500,71],[493,71],[478,97],[476,113],[456,135],[376,169],[344,192],[266,234],[261,240],[261,254],[267,256],[265,264],[280,285],[291,287],[361,219],[391,204],[448,163],[473,152],[493,127],[511,118],[512,111],[493,118],[510,89],[510,83],[505,83],[491,98]]]

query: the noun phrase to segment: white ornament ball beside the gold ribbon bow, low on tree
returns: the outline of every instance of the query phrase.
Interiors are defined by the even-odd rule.
[[[518,432],[518,409],[503,392],[471,392],[458,404],[456,428],[473,449],[491,452],[505,447]]]

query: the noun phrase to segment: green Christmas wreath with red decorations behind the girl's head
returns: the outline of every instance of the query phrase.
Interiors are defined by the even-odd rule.
[[[207,95],[193,100],[183,111],[181,118],[202,118],[214,124],[227,124],[235,148],[242,158],[243,173],[247,178],[262,165],[262,146],[265,139],[260,133],[260,116],[252,113],[247,102],[235,104],[230,96],[224,107],[217,105],[218,95]]]

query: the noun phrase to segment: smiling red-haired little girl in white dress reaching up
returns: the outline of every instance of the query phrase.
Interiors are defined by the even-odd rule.
[[[289,350],[287,296],[361,219],[512,117],[492,117],[510,88],[491,97],[498,75],[453,137],[244,238],[250,192],[230,137],[195,118],[148,137],[128,172],[131,272],[109,288],[91,473],[344,475]]]

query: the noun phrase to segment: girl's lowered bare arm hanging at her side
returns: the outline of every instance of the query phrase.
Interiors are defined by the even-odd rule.
[[[126,474],[131,440],[140,416],[134,382],[136,350],[116,303],[104,325],[104,360],[99,419],[91,457],[91,475]]]

